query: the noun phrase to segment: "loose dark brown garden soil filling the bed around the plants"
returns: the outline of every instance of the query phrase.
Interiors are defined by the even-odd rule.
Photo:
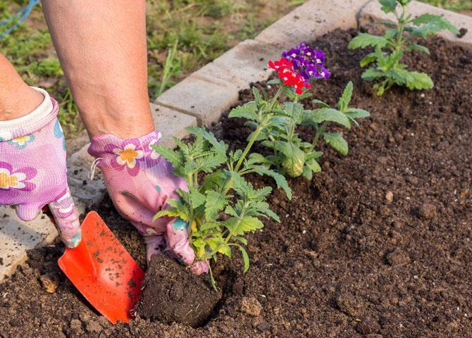
[[[378,98],[360,78],[365,52],[347,50],[354,35],[337,30],[315,43],[333,76],[313,92],[335,104],[353,80],[352,106],[372,117],[344,132],[348,156],[322,146],[323,173],[290,180],[292,201],[273,193],[282,222],[249,236],[248,273],[238,253],[218,261],[223,299],[203,327],[144,319],[113,327],[58,272],[58,244],[31,251],[0,284],[0,337],[472,337],[472,54],[432,39],[430,57],[407,62],[435,88]],[[213,129],[236,147],[249,132],[226,118]],[[108,199],[98,210],[144,264],[137,232]]]

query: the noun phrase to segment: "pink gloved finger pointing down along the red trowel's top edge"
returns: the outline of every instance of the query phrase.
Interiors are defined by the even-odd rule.
[[[80,230],[79,215],[77,215],[69,188],[66,188],[66,192],[56,201],[49,204],[49,209],[51,209],[56,221],[56,228],[64,244],[71,249],[77,247],[82,239],[82,231]]]

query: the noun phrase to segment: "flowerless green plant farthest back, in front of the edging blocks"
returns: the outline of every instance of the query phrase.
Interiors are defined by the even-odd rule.
[[[381,37],[361,33],[349,43],[349,49],[372,46],[375,51],[361,60],[361,67],[373,64],[362,74],[367,81],[375,81],[373,89],[381,96],[385,90],[394,84],[406,86],[409,89],[431,89],[433,80],[426,73],[407,70],[407,65],[401,63],[405,53],[422,51],[429,54],[428,48],[416,43],[417,39],[426,39],[441,30],[449,30],[459,34],[457,27],[449,23],[442,15],[424,13],[416,18],[406,13],[406,6],[411,0],[379,0],[382,11],[393,13],[396,23],[381,23],[387,27]],[[400,11],[397,7],[400,6]],[[416,38],[416,39],[415,39]]]

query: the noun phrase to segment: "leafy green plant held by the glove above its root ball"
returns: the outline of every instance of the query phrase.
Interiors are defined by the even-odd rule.
[[[177,150],[162,144],[153,146],[172,163],[175,175],[184,178],[188,187],[188,191],[178,189],[180,199],[168,200],[170,208],[159,211],[154,218],[180,217],[189,223],[190,244],[197,260],[209,263],[211,259],[216,261],[218,253],[231,257],[232,248],[239,249],[244,272],[249,268],[244,234],[261,229],[263,223],[260,218],[280,221],[266,203],[271,187],[254,189],[251,183],[244,180],[244,175],[258,173],[271,176],[278,187],[285,190],[288,198],[292,198],[285,177],[247,158],[259,133],[271,126],[273,118],[279,115],[270,106],[261,107],[254,114],[259,115],[261,125],[244,151],[238,149],[228,153],[227,144],[218,142],[211,132],[194,127],[189,128],[195,135],[194,142],[184,143],[175,138]],[[204,178],[199,182],[202,176]],[[211,267],[209,271],[211,284],[216,289]]]

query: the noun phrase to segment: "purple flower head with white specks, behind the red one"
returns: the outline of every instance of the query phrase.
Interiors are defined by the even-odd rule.
[[[304,77],[306,82],[316,79],[327,79],[330,72],[325,68],[325,54],[302,43],[290,51],[282,53],[284,58],[293,63],[294,70]]]

